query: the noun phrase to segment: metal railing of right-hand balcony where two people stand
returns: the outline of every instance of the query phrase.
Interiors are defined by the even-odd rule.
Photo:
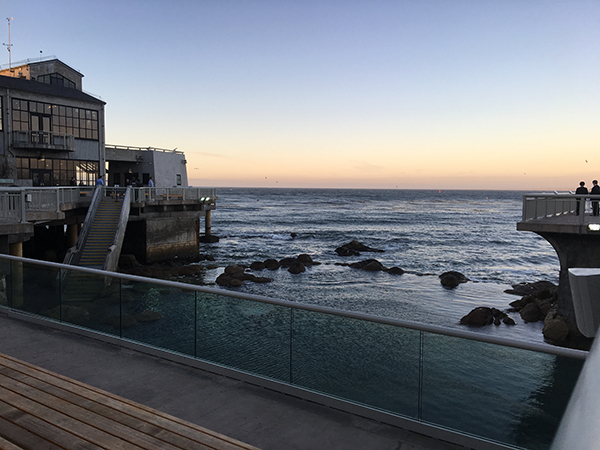
[[[522,221],[548,219],[577,213],[577,204],[583,212],[579,216],[581,224],[585,223],[585,213],[591,212],[592,202],[600,202],[600,195],[575,194],[527,194],[523,196]]]

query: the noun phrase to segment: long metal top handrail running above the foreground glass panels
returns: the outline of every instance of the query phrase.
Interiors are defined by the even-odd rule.
[[[425,323],[412,322],[412,321],[408,321],[408,320],[373,316],[370,314],[365,314],[365,313],[360,313],[360,312],[345,311],[345,310],[334,309],[334,308],[330,308],[330,307],[326,307],[326,306],[308,305],[305,303],[296,303],[296,302],[292,302],[292,301],[288,301],[288,300],[273,299],[273,298],[263,297],[263,296],[254,295],[254,294],[244,294],[244,293],[239,293],[239,292],[223,291],[220,289],[209,288],[206,286],[196,286],[196,285],[180,283],[180,282],[176,282],[176,281],[167,281],[167,280],[159,280],[159,279],[154,279],[154,278],[146,278],[146,277],[140,277],[137,275],[127,275],[127,274],[122,274],[122,273],[118,273],[118,272],[109,272],[109,271],[103,271],[103,270],[98,270],[98,269],[90,269],[87,267],[69,266],[69,265],[65,265],[65,264],[53,263],[53,262],[48,262],[48,261],[40,261],[40,260],[29,259],[29,258],[21,258],[21,257],[11,256],[11,255],[0,255],[0,259],[19,261],[19,262],[35,264],[35,265],[40,265],[40,266],[46,266],[46,267],[53,267],[56,269],[76,270],[76,271],[80,271],[80,272],[91,273],[91,274],[102,276],[102,277],[110,276],[110,277],[114,277],[114,278],[120,278],[123,280],[137,281],[137,282],[143,282],[143,283],[151,282],[153,284],[176,288],[176,289],[181,289],[183,291],[190,291],[190,292],[198,291],[198,292],[204,292],[207,294],[221,295],[224,297],[233,297],[233,298],[239,298],[242,300],[250,300],[250,301],[256,301],[256,302],[260,302],[260,303],[268,303],[268,304],[272,304],[272,305],[276,305],[276,306],[284,306],[284,307],[293,308],[293,309],[301,309],[301,310],[305,310],[305,311],[312,311],[312,312],[329,314],[329,315],[334,315],[334,316],[339,316],[339,317],[346,317],[346,318],[350,318],[350,319],[365,320],[365,321],[384,324],[384,325],[409,328],[409,329],[416,330],[416,331],[425,331],[425,332],[429,332],[429,333],[435,333],[435,334],[440,334],[440,335],[444,335],[444,336],[469,339],[472,341],[484,342],[484,343],[488,343],[488,344],[503,345],[506,347],[514,347],[514,348],[520,348],[523,350],[531,350],[531,351],[535,351],[535,352],[548,353],[548,354],[556,355],[556,356],[565,356],[568,358],[586,359],[588,356],[588,353],[589,353],[584,350],[574,350],[574,349],[569,349],[569,348],[564,348],[564,347],[554,347],[554,346],[550,346],[550,345],[546,345],[546,344],[538,344],[535,342],[524,342],[524,341],[518,341],[516,339],[502,338],[502,337],[498,337],[498,336],[488,336],[488,335],[483,335],[480,333],[475,333],[472,331],[457,330],[457,329],[453,329],[453,328],[442,327],[439,325],[430,325],[430,324],[425,324]]]

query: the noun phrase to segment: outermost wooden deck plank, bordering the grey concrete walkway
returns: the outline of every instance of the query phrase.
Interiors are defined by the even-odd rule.
[[[151,426],[160,427],[165,434],[172,433],[190,439],[198,444],[220,450],[259,450],[257,447],[243,443],[220,433],[208,430],[199,425],[186,422],[145,405],[124,399],[110,392],[102,391],[77,380],[55,374],[41,367],[19,361],[0,354],[0,365],[14,369],[24,375],[36,378],[59,389],[68,390],[88,400],[111,408],[134,419],[147,422]],[[157,435],[158,437],[158,435]],[[182,447],[186,448],[186,447]],[[194,447],[198,448],[198,447]]]

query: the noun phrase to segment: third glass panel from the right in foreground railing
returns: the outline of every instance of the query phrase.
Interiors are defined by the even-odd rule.
[[[290,308],[203,292],[197,296],[198,358],[289,381]]]

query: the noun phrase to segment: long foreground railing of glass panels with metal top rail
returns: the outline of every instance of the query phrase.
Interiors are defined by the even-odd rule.
[[[588,354],[5,255],[0,287],[7,308],[476,449],[547,450]]]

